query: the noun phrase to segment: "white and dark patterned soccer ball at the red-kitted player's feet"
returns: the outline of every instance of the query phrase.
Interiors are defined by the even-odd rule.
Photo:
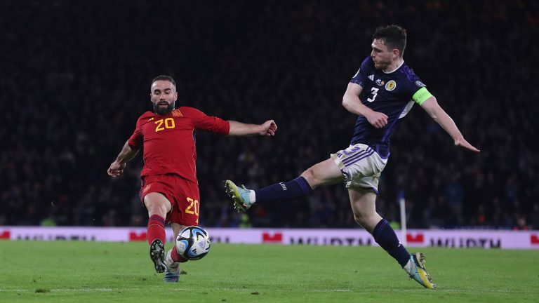
[[[185,227],[176,238],[176,250],[187,260],[202,259],[210,251],[210,246],[208,231],[197,226]]]

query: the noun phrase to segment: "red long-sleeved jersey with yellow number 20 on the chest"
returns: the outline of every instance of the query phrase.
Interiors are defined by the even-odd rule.
[[[192,107],[180,107],[164,116],[153,112],[142,114],[128,140],[131,149],[144,147],[140,176],[173,173],[198,184],[195,130],[228,135],[230,124]]]

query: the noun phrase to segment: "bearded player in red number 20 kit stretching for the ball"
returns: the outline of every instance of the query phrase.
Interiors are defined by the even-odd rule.
[[[260,125],[225,121],[207,116],[192,107],[178,107],[176,83],[170,76],[152,81],[150,98],[154,112],[138,118],[133,135],[124,144],[107,173],[118,177],[126,163],[143,148],[144,167],[140,173],[140,198],[148,210],[147,241],[149,255],[157,272],[164,272],[166,282],[177,282],[180,262],[186,262],[175,245],[165,255],[165,222],[171,224],[174,236],[189,225],[199,223],[199,184],[197,149],[194,132],[204,130],[220,135],[275,135],[273,120]]]

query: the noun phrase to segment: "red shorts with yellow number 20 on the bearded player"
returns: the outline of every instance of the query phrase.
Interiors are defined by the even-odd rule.
[[[179,175],[148,175],[142,177],[140,200],[152,192],[163,194],[172,204],[172,210],[166,214],[167,223],[198,225],[200,210],[199,186]]]

